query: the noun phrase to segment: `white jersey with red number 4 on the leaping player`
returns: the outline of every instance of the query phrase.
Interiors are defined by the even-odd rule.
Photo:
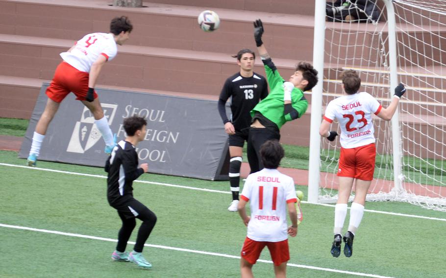
[[[118,47],[113,34],[92,33],[78,40],[70,52],[62,52],[60,56],[77,70],[90,72],[99,55],[112,60],[117,52]]]

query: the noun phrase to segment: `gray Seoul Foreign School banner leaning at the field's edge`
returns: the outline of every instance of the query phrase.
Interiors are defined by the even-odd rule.
[[[47,102],[44,83],[29,121],[19,157],[26,158],[37,121]],[[147,119],[147,136],[137,146],[149,172],[205,180],[228,179],[228,144],[217,102],[176,96],[97,89],[105,116],[118,141],[123,120]],[[105,143],[93,115],[69,94],[60,104],[42,143],[38,160],[103,166]]]

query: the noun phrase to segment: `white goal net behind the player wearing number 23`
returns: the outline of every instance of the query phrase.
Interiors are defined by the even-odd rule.
[[[351,7],[363,11],[355,3]],[[325,22],[321,113],[342,95],[345,69],[358,71],[360,90],[384,107],[394,93],[391,84],[405,84],[395,119],[373,119],[377,153],[368,200],[446,210],[446,0],[377,0],[375,11],[377,20]],[[321,140],[318,202],[336,201],[339,153],[339,137]]]

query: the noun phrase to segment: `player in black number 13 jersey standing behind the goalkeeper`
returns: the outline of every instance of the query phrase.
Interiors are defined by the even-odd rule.
[[[232,203],[229,211],[237,211],[239,203],[240,167],[242,165],[243,145],[248,140],[251,116],[249,112],[268,95],[265,77],[254,72],[255,53],[249,49],[240,50],[237,55],[240,72],[224,82],[218,102],[218,109],[224,124],[224,131],[229,135],[229,182]],[[231,97],[231,120],[226,116],[225,104]]]

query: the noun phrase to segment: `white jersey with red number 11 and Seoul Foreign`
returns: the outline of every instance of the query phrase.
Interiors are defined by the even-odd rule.
[[[246,178],[241,198],[251,208],[248,238],[270,242],[288,238],[287,203],[297,202],[293,178],[264,168]]]

